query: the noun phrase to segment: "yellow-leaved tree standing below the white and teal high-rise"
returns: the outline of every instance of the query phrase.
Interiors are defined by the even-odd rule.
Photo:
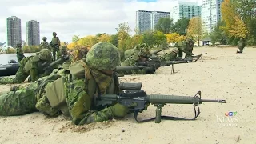
[[[199,41],[205,37],[205,30],[202,27],[202,19],[200,17],[194,17],[190,19],[189,26],[186,31],[188,38],[193,38]]]

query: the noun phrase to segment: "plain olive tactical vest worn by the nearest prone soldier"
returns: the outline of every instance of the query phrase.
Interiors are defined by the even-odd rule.
[[[86,66],[83,60],[80,60],[70,65],[69,72],[72,78],[86,78],[86,93],[90,96],[91,102],[94,102],[94,98],[98,96],[99,92],[98,85],[95,82],[93,76],[90,74],[90,68]],[[114,94],[114,90],[116,90],[118,86],[118,80],[116,80],[116,78],[112,79],[110,88],[106,90],[106,94]],[[62,114],[70,116],[70,112],[66,103],[66,94],[64,93],[64,82],[65,77],[61,77],[58,78],[58,80],[47,84],[45,88],[46,97],[49,99],[50,106],[61,110]]]

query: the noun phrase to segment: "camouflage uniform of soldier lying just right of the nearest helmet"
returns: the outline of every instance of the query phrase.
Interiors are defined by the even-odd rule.
[[[135,66],[137,62],[142,62],[140,58],[146,58],[146,61],[150,57],[150,51],[142,49],[138,54],[126,58],[124,62],[121,63],[121,66]],[[155,70],[141,69],[141,70],[129,70],[124,72],[124,74],[153,74]]]

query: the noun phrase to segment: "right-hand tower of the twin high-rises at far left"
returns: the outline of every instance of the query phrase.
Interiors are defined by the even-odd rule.
[[[39,22],[34,20],[26,22],[26,42],[28,46],[40,44]]]

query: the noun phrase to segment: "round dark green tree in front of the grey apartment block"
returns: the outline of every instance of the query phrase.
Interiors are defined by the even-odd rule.
[[[154,30],[161,31],[164,34],[170,32],[170,27],[173,25],[173,20],[170,17],[160,18],[158,23],[154,26]]]

